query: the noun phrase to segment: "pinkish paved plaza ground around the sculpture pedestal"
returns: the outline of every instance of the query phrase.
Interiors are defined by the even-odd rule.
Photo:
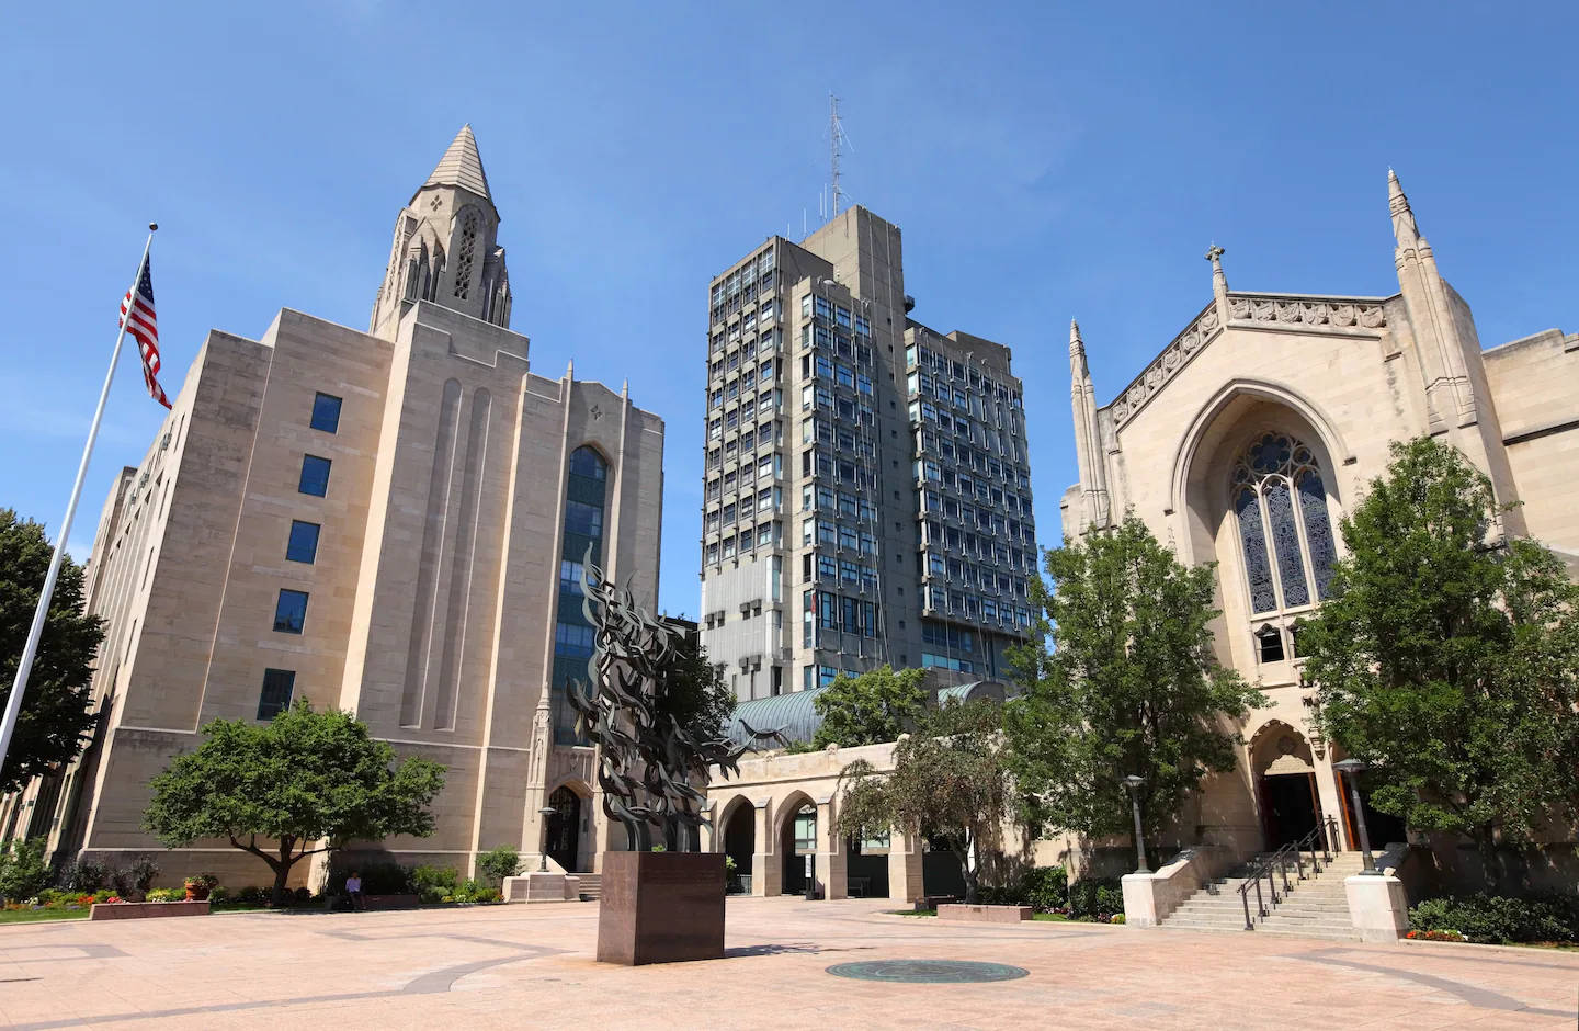
[[[940,924],[892,903],[731,898],[728,957],[595,963],[597,905],[235,913],[0,927],[14,1028],[1574,1028],[1579,952],[1366,946],[1080,924]],[[1030,969],[834,977],[853,960]]]

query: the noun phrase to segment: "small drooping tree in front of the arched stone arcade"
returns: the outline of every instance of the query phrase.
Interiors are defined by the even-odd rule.
[[[840,782],[840,834],[898,829],[943,840],[965,875],[965,902],[977,900],[982,862],[1001,848],[1012,818],[1003,706],[979,699],[922,710],[914,733],[894,745],[892,772],[856,759]]]

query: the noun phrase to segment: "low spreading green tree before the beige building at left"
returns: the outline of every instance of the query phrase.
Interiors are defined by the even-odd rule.
[[[393,761],[365,723],[338,709],[314,712],[306,699],[264,725],[215,720],[196,752],[150,782],[144,827],[169,846],[224,838],[257,856],[275,873],[279,905],[291,867],[306,856],[433,834],[428,804],[444,788],[444,767]]]

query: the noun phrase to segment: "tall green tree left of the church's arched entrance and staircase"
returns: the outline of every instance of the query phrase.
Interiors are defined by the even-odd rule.
[[[1210,772],[1235,767],[1235,722],[1260,690],[1213,657],[1213,565],[1183,567],[1127,513],[1047,553],[1031,583],[1042,638],[1014,655],[1025,693],[1006,710],[1018,808],[1037,832],[1134,834],[1121,778],[1145,778],[1153,840]]]

